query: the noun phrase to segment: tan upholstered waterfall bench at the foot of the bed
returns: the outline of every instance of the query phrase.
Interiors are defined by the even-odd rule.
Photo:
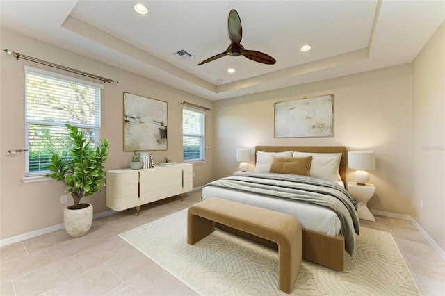
[[[278,288],[291,293],[302,258],[301,226],[295,217],[227,199],[207,199],[188,208],[188,244],[194,245],[212,233],[215,222],[276,242]]]

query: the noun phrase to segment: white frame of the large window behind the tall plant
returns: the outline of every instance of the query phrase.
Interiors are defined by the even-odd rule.
[[[29,81],[29,74],[36,75],[36,76],[44,76],[44,79],[48,79],[49,81],[63,81],[64,83],[71,83],[74,85],[81,85],[83,87],[90,87],[95,88],[95,94],[94,94],[94,106],[95,106],[95,115],[94,115],[94,124],[81,124],[79,122],[68,122],[68,121],[51,121],[51,120],[36,120],[36,119],[29,119],[28,117],[28,81]],[[46,76],[46,77],[45,77]],[[48,174],[49,170],[38,170],[35,172],[30,172],[30,125],[33,124],[42,124],[46,126],[59,126],[59,127],[65,127],[65,123],[72,124],[74,126],[77,126],[79,128],[88,128],[88,129],[94,129],[95,136],[94,136],[94,147],[96,147],[97,143],[99,142],[101,138],[101,96],[102,92],[101,90],[104,88],[104,85],[101,83],[94,83],[92,81],[86,81],[83,79],[77,79],[72,76],[67,76],[63,74],[59,74],[56,72],[50,72],[44,69],[39,69],[35,67],[24,67],[24,88],[25,88],[25,176],[22,179],[24,183],[29,182],[35,182],[35,181],[45,181],[49,180],[50,178],[44,177],[45,174]],[[51,117],[50,117],[51,118]]]

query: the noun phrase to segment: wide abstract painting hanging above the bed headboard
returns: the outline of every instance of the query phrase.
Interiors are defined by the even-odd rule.
[[[275,103],[275,138],[332,137],[334,94]]]

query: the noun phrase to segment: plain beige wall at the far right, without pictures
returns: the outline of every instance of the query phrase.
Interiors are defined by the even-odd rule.
[[[445,249],[445,23],[412,63],[412,167],[412,217]]]

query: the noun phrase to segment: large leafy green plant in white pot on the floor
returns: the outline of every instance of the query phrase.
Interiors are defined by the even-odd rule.
[[[108,140],[104,139],[93,149],[90,142],[83,138],[83,131],[76,126],[65,124],[70,130],[69,137],[73,144],[70,158],[63,160],[54,153],[47,168],[51,173],[45,175],[54,180],[60,180],[67,186],[74,199],[74,205],[67,206],[63,211],[65,230],[72,237],[85,235],[92,224],[92,205],[80,204],[82,197],[100,192],[100,186],[105,186],[105,167],[108,159]]]

